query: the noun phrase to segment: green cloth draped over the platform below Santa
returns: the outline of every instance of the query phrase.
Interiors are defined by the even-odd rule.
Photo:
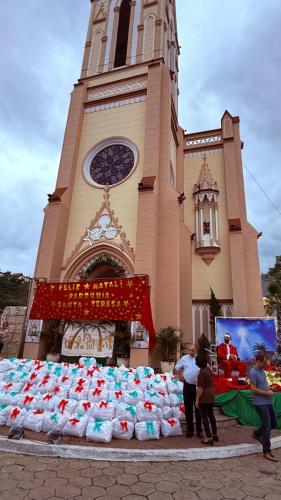
[[[272,399],[277,414],[277,428],[281,429],[281,393],[274,394]],[[240,424],[253,427],[260,425],[260,418],[252,403],[251,391],[232,390],[217,394],[215,404],[220,406],[226,415],[237,418]]]

